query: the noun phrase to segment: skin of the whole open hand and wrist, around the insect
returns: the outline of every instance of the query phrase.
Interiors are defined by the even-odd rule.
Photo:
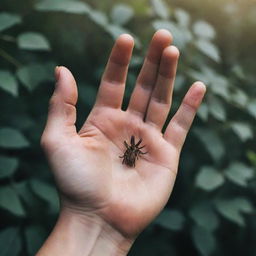
[[[182,145],[205,93],[201,82],[194,83],[162,132],[179,57],[171,42],[166,30],[154,34],[123,111],[134,42],[130,35],[121,35],[95,105],[78,132],[76,82],[67,68],[56,68],[56,88],[41,142],[55,176],[61,212],[38,255],[62,255],[64,249],[65,255],[102,255],[103,250],[104,255],[126,255],[136,236],[167,203]],[[143,139],[147,152],[135,167],[119,158],[126,150],[123,142],[132,135],[136,141]],[[71,241],[77,243],[75,248]]]

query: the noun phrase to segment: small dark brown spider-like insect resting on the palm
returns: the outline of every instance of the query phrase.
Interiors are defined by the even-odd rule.
[[[131,137],[131,145],[128,145],[126,141],[124,141],[124,145],[126,147],[126,151],[122,156],[119,156],[120,158],[123,158],[122,164],[126,164],[131,167],[135,167],[135,162],[136,160],[139,159],[140,155],[147,154],[147,152],[142,152],[141,149],[145,147],[139,147],[140,143],[142,142],[142,139],[140,139],[136,144],[135,144],[135,137],[132,135]]]

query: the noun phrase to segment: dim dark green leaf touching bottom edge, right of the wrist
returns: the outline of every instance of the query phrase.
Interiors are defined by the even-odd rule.
[[[199,226],[192,229],[192,238],[195,247],[203,256],[211,255],[216,247],[216,239],[211,232]]]

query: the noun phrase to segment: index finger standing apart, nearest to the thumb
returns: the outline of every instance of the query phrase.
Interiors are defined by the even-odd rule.
[[[133,38],[128,34],[123,34],[116,40],[102,76],[96,105],[121,107],[133,46]]]

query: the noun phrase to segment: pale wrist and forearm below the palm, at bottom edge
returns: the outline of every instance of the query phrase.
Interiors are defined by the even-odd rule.
[[[127,255],[132,243],[99,217],[62,210],[37,256],[121,256]]]

